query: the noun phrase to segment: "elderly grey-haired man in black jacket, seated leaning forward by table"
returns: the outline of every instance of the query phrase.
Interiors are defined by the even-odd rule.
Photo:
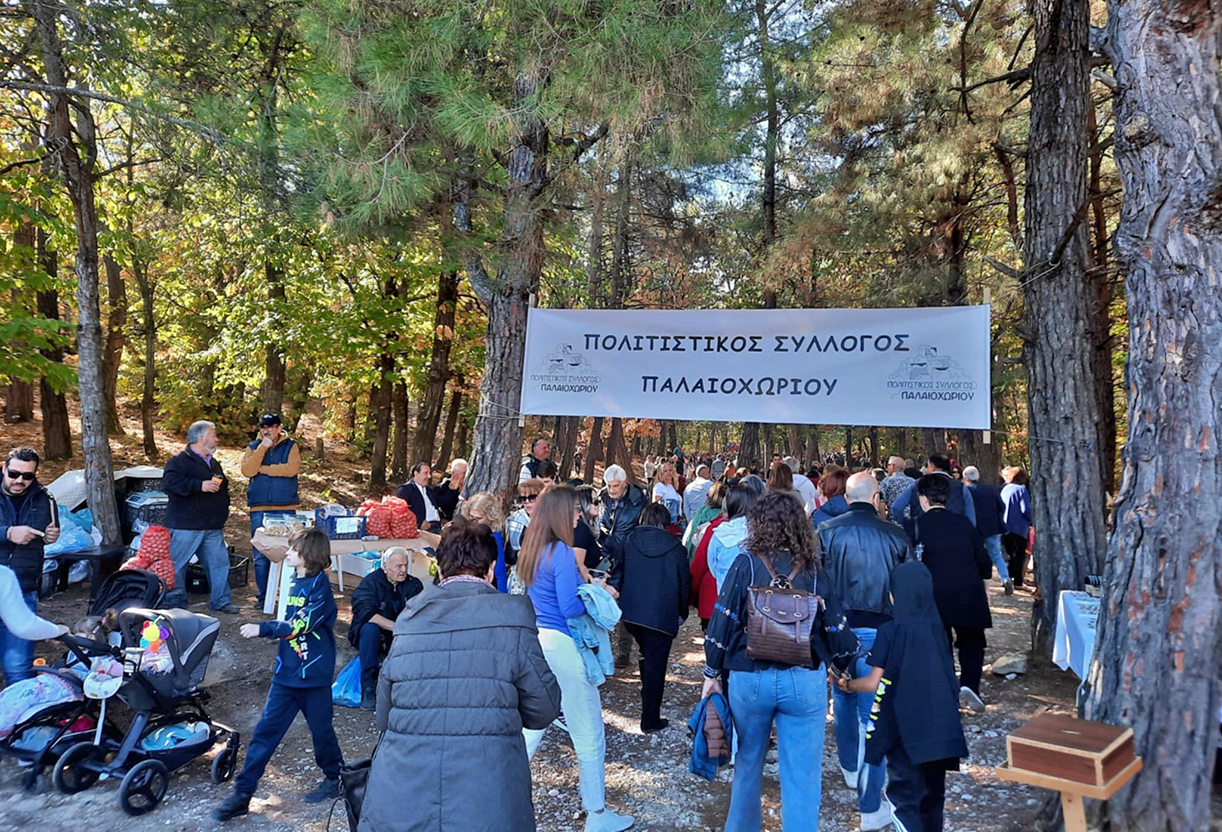
[[[419,579],[407,573],[409,556],[402,546],[382,552],[381,568],[362,578],[352,593],[352,626],[348,641],[360,656],[360,707],[374,710],[378,696],[378,671],[390,652],[395,619],[407,600],[424,589]]]

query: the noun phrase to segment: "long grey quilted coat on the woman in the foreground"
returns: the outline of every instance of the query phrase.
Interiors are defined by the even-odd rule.
[[[522,728],[558,715],[530,599],[426,585],[395,622],[379,676],[385,734],[359,832],[533,832]]]

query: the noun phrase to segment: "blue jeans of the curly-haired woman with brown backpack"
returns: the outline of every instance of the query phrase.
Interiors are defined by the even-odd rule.
[[[738,735],[726,832],[759,832],[760,789],[772,722],[781,772],[781,828],[819,823],[822,797],[827,671],[822,667],[733,671],[730,712]]]

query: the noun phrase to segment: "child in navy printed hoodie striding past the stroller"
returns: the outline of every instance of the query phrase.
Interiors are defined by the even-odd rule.
[[[287,619],[242,624],[242,637],[262,635],[279,641],[271,672],[268,704],[246,750],[246,764],[233,783],[233,794],[213,817],[229,821],[247,814],[263,770],[266,768],[297,712],[306,715],[314,738],[314,761],[325,779],[304,795],[306,803],[321,803],[340,795],[340,740],[331,724],[331,677],[335,676],[335,597],[326,569],[331,564],[331,542],[318,529],[306,529],[288,539],[285,567],[297,575],[287,597]]]

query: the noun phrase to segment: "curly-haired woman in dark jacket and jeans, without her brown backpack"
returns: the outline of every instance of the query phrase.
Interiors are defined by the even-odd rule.
[[[781,826],[786,832],[813,828],[819,821],[822,782],[824,724],[827,712],[827,659],[847,666],[855,639],[844,622],[831,582],[822,579],[815,536],[802,505],[772,491],[747,513],[745,551],[721,584],[705,633],[704,696],[721,690],[719,676],[730,671],[730,712],[738,734],[734,781],[726,832],[759,832],[760,787],[772,723],[776,723],[781,778]],[[826,607],[816,613],[808,666],[760,661],[747,656],[748,588],[787,575],[793,589],[816,593]],[[829,643],[832,651],[825,649]],[[849,649],[852,646],[852,649]],[[816,656],[819,659],[816,659]]]

